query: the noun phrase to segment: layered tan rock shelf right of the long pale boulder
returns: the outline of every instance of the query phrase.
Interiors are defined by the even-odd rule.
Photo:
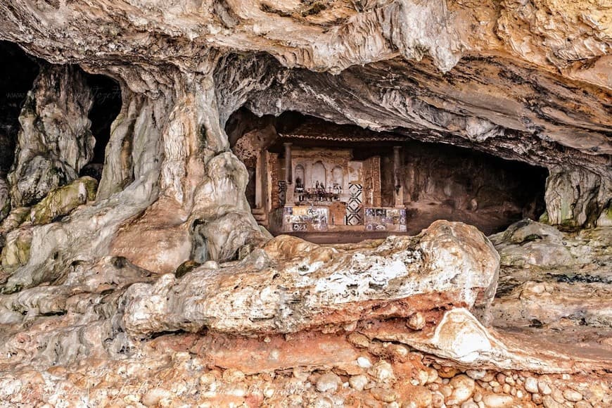
[[[501,256],[494,325],[558,343],[612,343],[612,231],[523,221],[491,237]]]

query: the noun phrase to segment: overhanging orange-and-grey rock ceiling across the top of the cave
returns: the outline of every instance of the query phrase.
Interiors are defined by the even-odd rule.
[[[11,1],[0,38],[136,92],[216,70],[222,123],[247,103],[540,165],[569,148],[601,173],[612,32],[596,4],[587,18],[557,1]]]

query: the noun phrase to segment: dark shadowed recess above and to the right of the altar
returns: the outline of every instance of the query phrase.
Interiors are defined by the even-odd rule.
[[[291,111],[278,117],[257,117],[241,108],[226,125],[231,146],[258,129],[267,129],[267,134],[273,129],[277,136],[267,136],[263,150],[280,157],[287,141],[302,148],[352,148],[355,160],[380,156],[383,206],[393,205],[393,146],[401,146],[408,234],[418,233],[436,219],[466,222],[485,234],[493,234],[520,219],[538,219],[545,210],[548,171],[544,167],[504,160],[470,148],[417,141],[404,134],[338,125]],[[253,206],[255,168],[251,167],[247,165],[251,178],[246,194]]]

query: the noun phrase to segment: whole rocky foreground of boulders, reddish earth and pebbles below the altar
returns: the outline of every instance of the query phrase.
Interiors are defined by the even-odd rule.
[[[464,308],[477,312],[486,296],[461,298],[440,286],[443,276],[467,264],[464,273],[473,281],[457,283],[455,276],[454,282],[485,295],[498,258],[478,234],[438,222],[417,237],[334,249],[279,237],[262,247],[268,260],[257,250],[249,255],[260,258],[258,269],[244,271],[245,264],[257,264],[253,260],[209,262],[177,278],[115,259],[90,267],[84,277],[77,269],[55,289],[0,295],[0,304],[15,311],[12,318],[2,314],[0,405],[610,406],[609,227],[563,233],[524,221],[491,236],[501,268],[488,329]],[[374,266],[384,259],[390,261]],[[394,260],[410,264],[407,275],[388,276]],[[363,274],[364,265],[374,269]],[[350,277],[340,278],[345,270],[357,278],[349,294],[344,290],[353,283],[338,286]],[[304,296],[316,290],[295,277],[311,274],[331,286],[308,300]],[[215,276],[221,281],[210,280]],[[377,276],[383,281],[373,289]],[[431,291],[415,287],[413,279],[433,284]],[[215,290],[207,294],[207,286]],[[293,314],[274,300],[279,287],[293,293]],[[426,299],[428,292],[438,294]],[[333,300],[341,308],[326,311],[321,299],[336,294],[348,302]],[[268,303],[257,304],[266,297]],[[308,310],[296,316],[300,304]],[[216,314],[207,318],[211,308]],[[105,332],[109,320],[117,327]]]

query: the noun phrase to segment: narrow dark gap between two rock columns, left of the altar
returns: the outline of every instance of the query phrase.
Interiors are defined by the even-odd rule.
[[[88,117],[91,122],[91,134],[96,139],[96,144],[94,145],[93,157],[82,168],[80,175],[91,176],[99,181],[102,175],[106,146],[110,140],[110,127],[121,111],[121,87],[115,79],[106,75],[86,72],[85,78],[94,97]]]

